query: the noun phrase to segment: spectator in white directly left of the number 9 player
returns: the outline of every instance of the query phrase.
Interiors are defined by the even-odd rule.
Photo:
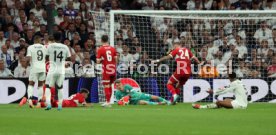
[[[28,78],[30,74],[30,66],[28,66],[27,58],[20,59],[20,65],[14,70],[14,77],[16,78]]]

